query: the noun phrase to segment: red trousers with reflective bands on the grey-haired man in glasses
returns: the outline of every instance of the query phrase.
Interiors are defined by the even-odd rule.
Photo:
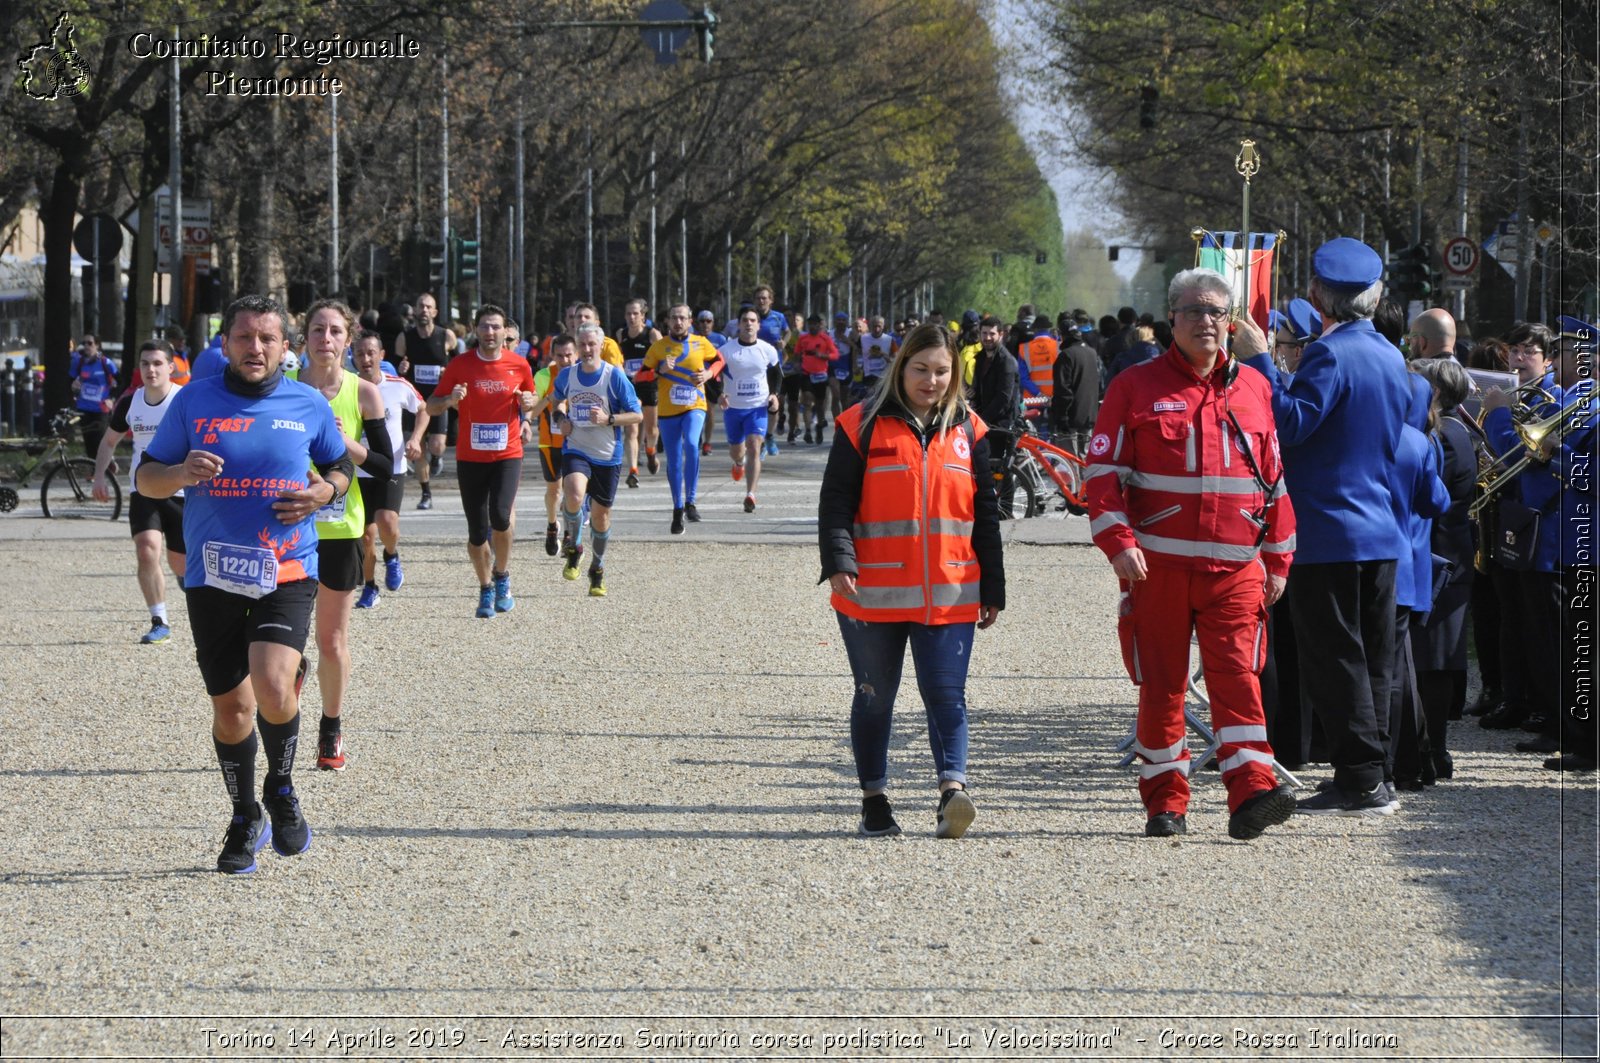
[[[1147,556],[1149,557],[1149,556]],[[1261,711],[1261,666],[1267,655],[1266,575],[1259,564],[1237,572],[1150,567],[1139,583],[1123,583],[1123,663],[1139,685],[1139,796],[1146,815],[1187,812],[1189,735],[1184,693],[1189,644],[1198,637],[1211,727],[1229,812],[1277,786],[1267,717]]]

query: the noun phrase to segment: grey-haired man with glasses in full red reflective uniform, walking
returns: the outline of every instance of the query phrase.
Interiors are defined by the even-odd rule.
[[[1258,837],[1294,812],[1278,786],[1261,709],[1266,610],[1294,551],[1272,391],[1227,349],[1232,290],[1221,274],[1173,279],[1173,346],[1112,381],[1090,440],[1094,544],[1122,581],[1123,661],[1139,685],[1134,751],[1150,837],[1187,832],[1184,690],[1198,636],[1230,812]],[[1248,319],[1238,328],[1254,328]]]

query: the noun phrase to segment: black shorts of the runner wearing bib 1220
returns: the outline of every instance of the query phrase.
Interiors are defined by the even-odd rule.
[[[216,588],[184,588],[195,660],[205,692],[224,695],[250,679],[250,644],[275,642],[296,653],[306,650],[317,581],[280,583],[266,597],[251,599]]]

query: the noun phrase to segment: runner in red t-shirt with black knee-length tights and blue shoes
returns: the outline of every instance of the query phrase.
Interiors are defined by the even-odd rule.
[[[467,556],[478,578],[477,616],[509,613],[512,515],[522,479],[522,418],[533,405],[533,368],[528,359],[504,347],[506,311],[478,307],[477,351],[451,360],[427,400],[429,416],[456,410],[456,477],[467,511]],[[494,541],[493,568],[490,540]]]

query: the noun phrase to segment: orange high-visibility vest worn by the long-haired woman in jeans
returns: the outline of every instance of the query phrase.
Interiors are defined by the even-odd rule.
[[[973,443],[989,431],[976,413],[922,440],[898,416],[878,416],[856,509],[856,597],[834,594],[845,616],[878,623],[955,624],[978,620]],[[861,451],[861,405],[838,415]]]

